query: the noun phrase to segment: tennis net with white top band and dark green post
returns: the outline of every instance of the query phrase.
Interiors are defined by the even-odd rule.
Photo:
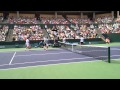
[[[77,43],[59,42],[62,49],[66,49],[85,56],[93,57],[98,60],[108,61],[110,63],[110,47],[95,45],[79,45]]]

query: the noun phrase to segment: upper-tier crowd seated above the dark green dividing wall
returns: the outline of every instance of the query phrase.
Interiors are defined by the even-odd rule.
[[[111,22],[120,22],[120,17],[114,20],[111,16],[99,16],[94,20],[90,20],[88,17],[77,18],[77,17],[40,17],[41,22],[38,21],[35,17],[20,16],[19,18],[9,16],[7,23],[10,24],[86,24],[86,23],[111,23]],[[0,16],[0,22],[3,21],[3,16]],[[70,21],[70,22],[69,22]]]

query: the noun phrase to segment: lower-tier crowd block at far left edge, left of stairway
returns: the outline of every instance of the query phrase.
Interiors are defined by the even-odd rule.
[[[7,25],[0,25],[0,41],[5,41],[8,29],[9,27]]]

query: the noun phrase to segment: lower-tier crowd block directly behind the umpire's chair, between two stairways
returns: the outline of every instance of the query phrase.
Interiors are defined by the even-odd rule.
[[[52,40],[56,37],[59,37],[59,39],[63,39],[64,37],[66,37],[66,39],[79,38],[79,36],[67,25],[56,25],[52,28],[47,27],[46,30]]]

